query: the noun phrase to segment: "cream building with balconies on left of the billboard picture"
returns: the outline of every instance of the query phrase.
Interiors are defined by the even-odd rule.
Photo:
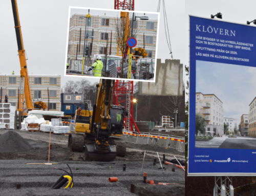
[[[216,95],[196,93],[196,113],[199,113],[204,118],[206,124],[223,127],[223,103]]]

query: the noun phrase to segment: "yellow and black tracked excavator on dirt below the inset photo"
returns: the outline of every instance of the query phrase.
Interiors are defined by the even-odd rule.
[[[85,147],[86,161],[108,162],[125,155],[125,144],[120,137],[126,113],[123,106],[111,105],[114,82],[100,79],[93,111],[87,110],[86,104],[76,110],[68,146],[80,152]]]

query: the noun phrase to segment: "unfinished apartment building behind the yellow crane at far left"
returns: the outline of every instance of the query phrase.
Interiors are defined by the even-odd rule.
[[[29,75],[29,83],[33,103],[37,100],[43,101],[49,107],[49,111],[60,111],[60,75]],[[8,102],[17,108],[19,84],[20,75],[0,74],[0,99],[2,98],[2,102],[7,95]],[[24,108],[26,108],[26,102]]]

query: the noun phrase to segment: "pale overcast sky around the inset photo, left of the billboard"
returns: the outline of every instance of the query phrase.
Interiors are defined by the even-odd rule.
[[[22,26],[24,48],[28,60],[29,74],[59,74],[61,86],[68,80],[80,80],[77,77],[64,77],[66,69],[66,40],[69,18],[69,6],[114,9],[114,0],[17,0],[20,25]],[[174,59],[187,62],[184,56],[185,8],[184,1],[165,1],[170,40]],[[135,1],[135,11],[156,12],[158,1]],[[1,36],[0,36],[0,73],[20,72],[17,42],[11,1],[1,1]],[[170,59],[163,20],[163,8],[160,10],[160,30],[157,58],[162,62]],[[91,82],[97,79],[90,79]]]

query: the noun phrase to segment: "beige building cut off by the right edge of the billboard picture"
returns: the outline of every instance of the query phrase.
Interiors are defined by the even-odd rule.
[[[249,104],[249,133],[250,137],[256,138],[256,97]]]

